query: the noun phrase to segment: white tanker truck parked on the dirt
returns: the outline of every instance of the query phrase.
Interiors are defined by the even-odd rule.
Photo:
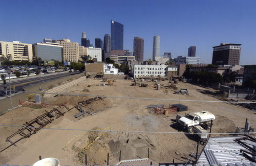
[[[215,120],[215,115],[208,111],[188,113],[184,117],[176,118],[178,125],[189,133],[194,132],[195,126],[209,129],[211,120]]]

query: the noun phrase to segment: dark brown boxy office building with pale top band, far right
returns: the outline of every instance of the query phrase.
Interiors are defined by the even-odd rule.
[[[214,65],[239,65],[242,44],[221,43],[219,46],[213,46],[212,64]]]

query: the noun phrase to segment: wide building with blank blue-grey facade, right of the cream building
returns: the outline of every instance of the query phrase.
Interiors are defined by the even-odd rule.
[[[45,40],[44,40],[45,41]],[[41,58],[43,61],[57,60],[62,61],[63,46],[58,43],[34,43],[33,47],[33,59]]]

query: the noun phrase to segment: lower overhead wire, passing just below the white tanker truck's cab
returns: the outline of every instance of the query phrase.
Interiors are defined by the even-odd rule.
[[[14,125],[0,125],[0,126],[3,126],[3,127],[18,127],[18,128],[30,128],[30,129],[70,130],[70,131],[105,131],[105,132],[128,132],[128,133],[154,133],[154,134],[202,134],[202,133],[168,132],[168,131],[88,130],[88,129],[65,129],[65,128],[45,128],[45,127],[14,126]],[[245,132],[245,133],[211,133],[211,134],[256,134],[256,132]]]

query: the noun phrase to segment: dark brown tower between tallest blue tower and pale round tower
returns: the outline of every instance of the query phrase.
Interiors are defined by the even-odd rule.
[[[143,61],[144,56],[144,39],[134,37],[133,40],[133,53],[137,61]]]

